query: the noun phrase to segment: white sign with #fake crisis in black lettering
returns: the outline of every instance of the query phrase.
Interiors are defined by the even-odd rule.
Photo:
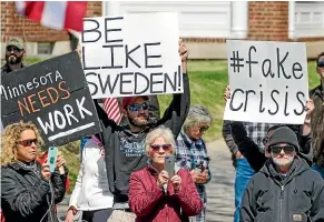
[[[308,98],[305,43],[227,41],[232,98],[224,119],[303,124]]]

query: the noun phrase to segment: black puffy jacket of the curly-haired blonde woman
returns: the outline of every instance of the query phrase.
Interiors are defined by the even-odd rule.
[[[33,165],[17,162],[1,168],[1,208],[6,222],[58,222],[55,204],[65,196],[67,173],[56,170],[50,185],[40,172],[38,162]]]

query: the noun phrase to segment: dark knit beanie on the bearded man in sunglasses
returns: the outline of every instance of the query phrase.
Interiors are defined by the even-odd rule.
[[[268,139],[268,148],[279,143],[288,143],[295,147],[296,152],[300,151],[297,137],[295,132],[287,127],[275,129]]]

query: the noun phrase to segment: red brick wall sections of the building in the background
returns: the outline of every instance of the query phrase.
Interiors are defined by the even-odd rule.
[[[87,17],[101,16],[101,1],[88,1]],[[24,36],[29,42],[68,40],[66,31],[56,31],[14,13],[14,2],[1,1],[1,41],[11,36]],[[248,3],[248,38],[251,40],[288,41],[288,2],[251,1]],[[303,38],[295,41],[320,41],[323,38]],[[186,42],[224,43],[224,38],[184,38]]]

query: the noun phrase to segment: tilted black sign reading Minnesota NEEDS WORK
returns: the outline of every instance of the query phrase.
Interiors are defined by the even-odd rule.
[[[1,77],[3,125],[33,122],[47,145],[62,145],[100,131],[77,52]]]

